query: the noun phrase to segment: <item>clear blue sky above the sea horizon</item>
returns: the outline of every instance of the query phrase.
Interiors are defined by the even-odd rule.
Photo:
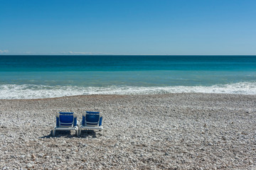
[[[256,55],[255,0],[0,0],[0,55]]]

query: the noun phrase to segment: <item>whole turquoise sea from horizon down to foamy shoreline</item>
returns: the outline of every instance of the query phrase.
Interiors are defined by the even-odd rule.
[[[0,99],[172,93],[256,95],[256,56],[0,55]]]

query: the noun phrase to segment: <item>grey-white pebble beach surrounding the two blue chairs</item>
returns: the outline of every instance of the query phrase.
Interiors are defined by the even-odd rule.
[[[100,111],[100,132],[55,113]],[[0,100],[1,169],[256,169],[256,96],[91,95]]]

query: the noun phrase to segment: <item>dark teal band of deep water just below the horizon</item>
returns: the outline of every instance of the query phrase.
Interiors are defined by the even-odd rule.
[[[0,72],[255,71],[256,56],[0,56]]]

